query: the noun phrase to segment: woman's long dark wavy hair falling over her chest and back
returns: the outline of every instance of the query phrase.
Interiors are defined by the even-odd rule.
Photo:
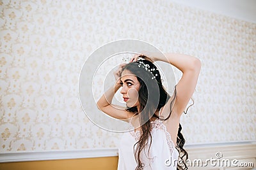
[[[144,58],[144,55],[140,56],[141,58]],[[139,58],[140,59],[140,58]],[[146,70],[145,67],[141,66],[144,65],[149,66],[150,69],[152,69],[152,71],[148,71],[148,69]],[[143,169],[143,162],[141,162],[140,159],[140,153],[143,151],[143,149],[145,148],[145,146],[148,144],[148,142],[150,143],[149,148],[151,146],[152,143],[152,136],[150,133],[150,129],[151,129],[151,124],[150,124],[150,118],[154,117],[154,118],[160,118],[158,115],[155,114],[156,110],[160,110],[161,107],[164,106],[164,104],[166,104],[166,102],[168,101],[168,99],[170,99],[170,95],[168,94],[168,92],[166,92],[166,90],[163,87],[162,81],[161,81],[161,76],[159,73],[159,70],[157,69],[157,67],[150,61],[148,60],[138,60],[136,62],[130,62],[129,64],[127,64],[122,71],[124,71],[125,69],[127,69],[128,71],[130,71],[132,74],[134,74],[138,81],[140,82],[140,89],[138,91],[139,97],[139,103],[140,103],[140,110],[137,109],[136,106],[131,107],[131,108],[126,108],[127,111],[131,111],[131,112],[138,112],[140,113],[139,115],[139,120],[140,120],[140,124],[141,125],[141,136],[140,139],[135,143],[134,147],[137,145],[136,150],[134,150],[134,157],[136,159],[137,162],[137,169]],[[153,73],[153,74],[152,74]],[[156,76],[157,75],[157,76]],[[155,78],[154,78],[155,76]],[[152,85],[154,83],[150,83],[153,80],[157,81],[157,85]],[[150,99],[148,99],[148,90],[150,90],[150,92],[152,92],[153,94],[158,92],[159,94],[159,101],[157,101],[157,105],[156,107],[154,107],[154,101],[150,101]],[[166,118],[160,118],[160,120],[168,120],[168,118],[170,118],[170,115],[172,114],[172,108],[173,108],[173,104],[176,98],[176,86],[173,92],[173,99],[171,102],[171,111],[168,115],[168,117]],[[151,107],[145,107],[146,104],[149,102],[149,106]],[[151,104],[151,103],[152,104]],[[177,169],[180,170],[184,170],[184,169],[188,169],[188,167],[186,166],[186,160],[188,159],[188,153],[186,152],[186,150],[184,150],[183,146],[185,143],[185,139],[181,133],[181,125],[179,124],[179,131],[178,131],[178,135],[177,135],[177,145],[175,146],[177,148],[177,150],[179,151],[179,158],[180,160],[178,161],[177,164]],[[149,149],[148,149],[149,152]]]

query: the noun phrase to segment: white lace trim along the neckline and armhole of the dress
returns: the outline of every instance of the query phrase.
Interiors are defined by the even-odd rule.
[[[170,149],[170,152],[172,154],[173,152],[173,149],[175,148],[174,146],[174,143],[172,141],[172,138],[171,138],[171,135],[170,133],[167,131],[166,129],[166,126],[163,124],[163,122],[161,120],[154,120],[154,121],[151,121],[151,131],[153,130],[161,130],[161,131],[164,131],[165,133],[165,136],[166,136],[166,140],[167,140],[167,143],[168,143],[168,146],[169,146],[169,149]],[[131,125],[131,124],[130,124]],[[132,125],[131,125],[132,126]],[[133,127],[133,126],[132,126]],[[140,136],[141,136],[141,131],[131,131],[130,134],[134,137],[134,139],[136,141],[138,141],[140,139]]]

